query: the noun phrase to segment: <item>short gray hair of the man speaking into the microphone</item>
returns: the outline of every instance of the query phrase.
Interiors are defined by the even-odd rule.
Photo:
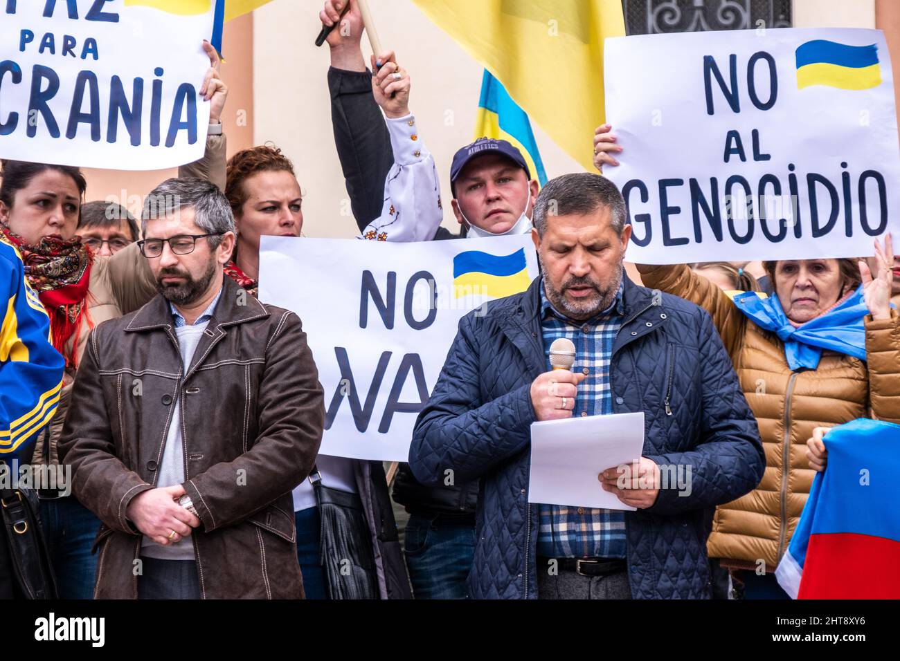
[[[551,179],[541,190],[531,219],[537,229],[537,236],[543,237],[548,217],[587,214],[600,207],[609,208],[609,224],[621,237],[628,212],[616,184],[604,176],[590,172],[563,174]]]

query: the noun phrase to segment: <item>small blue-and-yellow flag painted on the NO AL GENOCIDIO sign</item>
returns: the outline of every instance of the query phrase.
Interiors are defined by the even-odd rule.
[[[878,48],[848,46],[816,39],[797,48],[797,89],[828,85],[843,90],[868,90],[881,85]]]

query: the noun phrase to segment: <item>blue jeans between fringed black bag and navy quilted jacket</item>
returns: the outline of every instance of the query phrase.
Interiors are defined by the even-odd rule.
[[[475,553],[473,523],[410,514],[403,546],[416,599],[465,599]]]

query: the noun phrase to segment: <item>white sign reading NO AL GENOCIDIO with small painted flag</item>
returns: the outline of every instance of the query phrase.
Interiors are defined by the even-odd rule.
[[[900,235],[881,31],[622,37],[604,62],[623,147],[604,174],[626,199],[629,261],[854,257]]]

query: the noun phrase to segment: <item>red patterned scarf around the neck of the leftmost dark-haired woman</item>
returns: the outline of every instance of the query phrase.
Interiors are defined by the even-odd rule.
[[[25,277],[31,288],[38,292],[50,317],[53,347],[66,358],[66,368],[75,369],[82,319],[87,320],[88,326],[93,326],[87,315],[86,300],[94,255],[81,243],[80,237],[68,241],[43,237],[40,244],[33,246],[6,226],[0,226],[0,231],[22,255]],[[64,348],[73,335],[73,351],[67,355]]]

